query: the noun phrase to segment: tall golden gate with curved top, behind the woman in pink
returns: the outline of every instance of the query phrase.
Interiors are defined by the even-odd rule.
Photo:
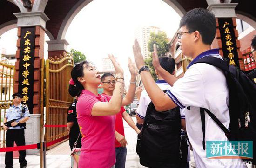
[[[46,122],[45,125],[67,125],[67,109],[73,102],[68,93],[68,82],[74,60],[64,57],[61,60],[46,60]],[[64,141],[68,138],[66,127],[46,127],[46,142]],[[60,143],[59,142],[59,143]],[[56,143],[47,149],[59,144]]]

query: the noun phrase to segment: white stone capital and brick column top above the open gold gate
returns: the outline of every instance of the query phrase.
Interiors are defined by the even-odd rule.
[[[67,53],[67,45],[68,42],[65,39],[61,40],[50,40],[46,41],[48,44],[48,58],[57,58],[60,57],[60,55],[63,56],[63,53]]]

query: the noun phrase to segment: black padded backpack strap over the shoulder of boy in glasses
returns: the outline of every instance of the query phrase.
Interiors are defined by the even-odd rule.
[[[198,59],[197,61],[195,61],[194,64],[196,64],[196,63],[206,63],[206,64],[209,64],[209,65],[216,66],[217,68],[220,68],[223,71],[229,72],[229,65],[220,58],[216,58],[216,57],[212,57],[212,56],[206,56],[206,57],[203,57],[201,59]]]

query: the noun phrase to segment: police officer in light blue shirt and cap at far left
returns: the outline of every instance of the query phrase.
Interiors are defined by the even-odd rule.
[[[5,115],[4,123],[14,119],[10,126],[3,125],[6,130],[6,146],[13,147],[15,142],[17,146],[25,145],[24,126],[23,124],[29,119],[29,110],[27,106],[21,104],[22,95],[19,93],[13,94],[13,106],[11,106]],[[23,124],[22,124],[23,123]],[[19,151],[20,168],[27,167],[26,150]],[[13,168],[13,152],[6,152],[5,154],[6,168]]]

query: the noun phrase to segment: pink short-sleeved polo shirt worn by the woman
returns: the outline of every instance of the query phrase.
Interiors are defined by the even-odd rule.
[[[83,168],[110,168],[115,164],[115,115],[92,116],[92,108],[99,101],[108,102],[107,96],[82,90],[76,105],[82,133],[79,165]]]

